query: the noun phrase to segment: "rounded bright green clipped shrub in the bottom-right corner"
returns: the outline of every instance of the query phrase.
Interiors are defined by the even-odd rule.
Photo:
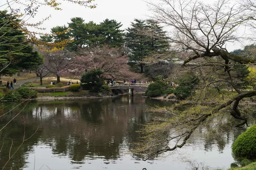
[[[238,136],[232,145],[232,155],[236,161],[256,159],[256,125]]]

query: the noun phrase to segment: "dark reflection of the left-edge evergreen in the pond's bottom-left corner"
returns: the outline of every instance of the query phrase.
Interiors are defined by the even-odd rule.
[[[13,111],[0,119],[0,129],[4,125],[6,125],[7,120],[11,119],[13,116],[15,116],[15,114],[16,113]],[[22,143],[24,136],[24,120],[30,122],[30,116],[31,115],[29,115],[29,113],[26,114],[26,116],[17,116],[14,121],[11,121],[9,125],[7,125],[5,128],[3,128],[3,130],[0,131],[0,147],[3,146],[0,152],[0,169],[2,169],[6,162],[9,160],[9,153],[12,156]],[[25,121],[25,139],[28,139],[30,136],[33,135],[33,133],[35,133],[37,128],[35,125],[33,125],[33,123],[33,120],[31,121],[31,124],[26,123]],[[42,131],[38,130],[37,133],[35,133],[29,140],[21,145],[20,149],[17,151],[17,154],[15,154],[6,165],[6,170],[20,169],[25,166],[28,156],[27,153],[31,152],[33,146],[39,142],[39,136],[41,136],[41,133]]]

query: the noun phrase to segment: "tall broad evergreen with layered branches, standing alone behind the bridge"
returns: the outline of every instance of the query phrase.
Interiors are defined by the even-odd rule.
[[[154,52],[162,53],[168,50],[166,31],[163,31],[163,27],[157,21],[135,19],[126,30],[128,32],[125,34],[125,40],[129,58],[140,65],[141,72],[145,65],[145,57]]]

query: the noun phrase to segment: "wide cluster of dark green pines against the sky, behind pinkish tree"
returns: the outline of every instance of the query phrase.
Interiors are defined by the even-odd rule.
[[[116,20],[106,19],[96,24],[93,21],[84,23],[81,17],[71,18],[67,26],[56,26],[51,29],[50,36],[42,36],[46,42],[60,42],[73,38],[67,45],[70,51],[78,51],[81,48],[95,48],[108,45],[111,48],[121,48],[124,44],[124,30],[121,23]],[[71,29],[69,29],[71,28]]]

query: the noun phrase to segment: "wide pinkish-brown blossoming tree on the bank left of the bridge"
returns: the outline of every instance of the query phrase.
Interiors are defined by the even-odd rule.
[[[80,51],[67,71],[80,78],[84,72],[99,68],[104,71],[102,76],[105,79],[141,79],[141,74],[130,71],[128,59],[119,48],[105,45]]]

